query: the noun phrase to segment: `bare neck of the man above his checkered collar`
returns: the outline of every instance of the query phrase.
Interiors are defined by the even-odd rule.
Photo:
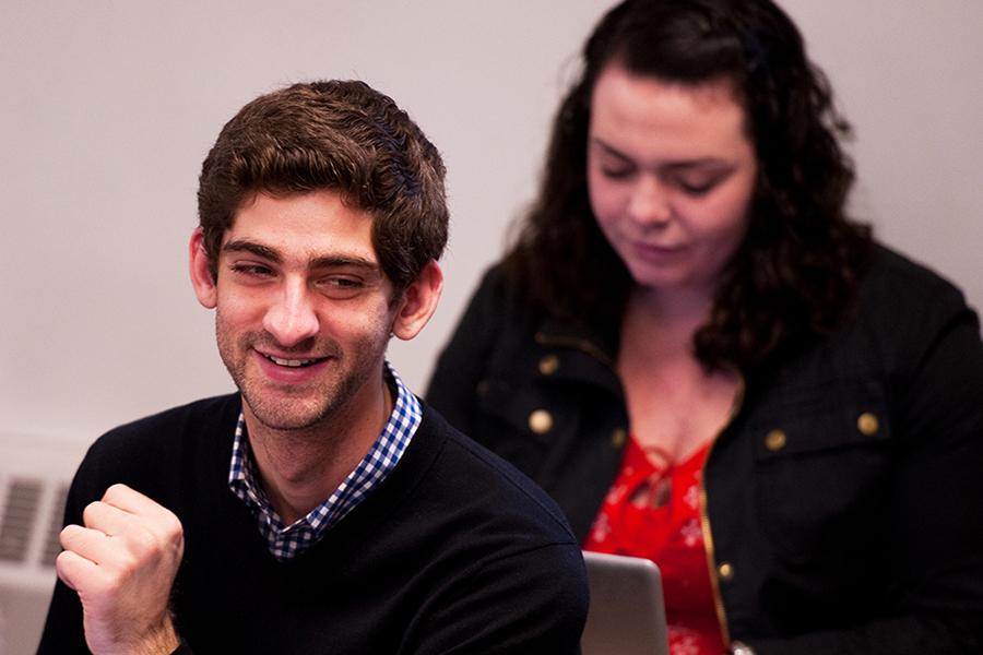
[[[384,381],[365,391],[366,401],[353,398],[317,426],[303,430],[264,426],[244,403],[259,479],[284,525],[327,500],[379,437],[394,400]]]

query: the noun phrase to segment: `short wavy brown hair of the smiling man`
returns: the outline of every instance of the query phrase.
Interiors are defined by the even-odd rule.
[[[198,214],[212,276],[225,230],[256,193],[330,189],[372,215],[372,246],[399,294],[443,252],[443,176],[419,127],[364,82],[298,83],[262,95],[225,124],[201,167]]]

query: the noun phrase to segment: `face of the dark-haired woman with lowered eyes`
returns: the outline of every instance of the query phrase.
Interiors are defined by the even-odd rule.
[[[635,282],[712,294],[747,231],[757,160],[725,81],[664,83],[608,66],[594,86],[588,186]]]

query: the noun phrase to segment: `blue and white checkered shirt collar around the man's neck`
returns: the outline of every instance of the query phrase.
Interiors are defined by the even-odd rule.
[[[392,366],[386,362],[386,379],[395,390],[395,403],[389,420],[378,439],[355,469],[337,489],[306,516],[291,525],[284,525],[270,504],[260,485],[256,464],[246,439],[246,421],[242,413],[236,425],[233,441],[228,487],[250,509],[259,523],[260,534],[267,539],[270,552],[279,560],[291,559],[316,544],[332,525],[341,521],[369,495],[395,467],[410,445],[423,417],[419,401],[400,380]]]

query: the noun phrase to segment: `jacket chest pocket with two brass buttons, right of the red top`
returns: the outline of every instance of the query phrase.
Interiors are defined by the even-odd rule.
[[[836,565],[876,547],[891,468],[879,384],[785,389],[748,428],[758,516],[781,559]]]

